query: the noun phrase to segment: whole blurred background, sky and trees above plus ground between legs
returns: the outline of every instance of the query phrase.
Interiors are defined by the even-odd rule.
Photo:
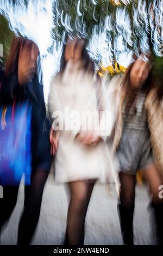
[[[159,0],[0,0],[0,66],[3,69],[13,36],[33,40],[41,54],[45,101],[52,77],[59,71],[62,46],[67,34],[87,40],[87,50],[100,76],[125,72],[133,52],[154,55],[154,68],[162,86],[163,1]],[[149,229],[149,198],[141,173],[137,176],[135,244],[155,243]],[[20,190],[22,190],[20,186]],[[58,196],[59,195],[59,196]],[[2,245],[15,244],[18,218],[23,204],[20,193],[9,225],[2,233]],[[63,185],[49,175],[35,245],[64,241],[67,198]],[[85,243],[122,244],[114,186],[97,184],[87,216]],[[139,214],[138,214],[139,213]],[[138,216],[139,215],[139,216]],[[143,220],[143,223],[142,221]]]

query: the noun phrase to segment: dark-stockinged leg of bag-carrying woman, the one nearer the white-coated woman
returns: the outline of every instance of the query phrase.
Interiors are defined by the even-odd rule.
[[[25,187],[24,211],[18,227],[17,245],[29,245],[39,221],[43,188],[48,172],[32,174],[31,185]]]

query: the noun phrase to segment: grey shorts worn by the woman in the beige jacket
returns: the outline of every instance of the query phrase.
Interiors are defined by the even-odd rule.
[[[154,162],[150,134],[146,130],[125,130],[117,148],[118,172],[135,175]]]

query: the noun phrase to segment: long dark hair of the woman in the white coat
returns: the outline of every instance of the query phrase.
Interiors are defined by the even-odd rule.
[[[76,36],[77,37],[77,36]],[[75,44],[75,47],[77,47],[77,45],[79,44],[80,40],[83,40],[83,39],[80,39],[77,37],[77,41],[76,41],[76,44]],[[86,71],[86,72],[89,72],[90,74],[94,74],[95,72],[95,64],[93,62],[93,60],[90,58],[87,50],[86,50],[86,41],[84,41],[84,44],[83,44],[83,49],[82,49],[82,63],[83,63],[83,69]],[[65,60],[65,51],[66,51],[66,46],[67,46],[67,42],[68,42],[68,36],[67,36],[67,40],[66,40],[66,44],[64,44],[63,46],[63,50],[62,50],[62,55],[61,55],[61,62],[60,62],[60,74],[62,75],[62,73],[64,72],[65,68],[66,68],[66,60]]]

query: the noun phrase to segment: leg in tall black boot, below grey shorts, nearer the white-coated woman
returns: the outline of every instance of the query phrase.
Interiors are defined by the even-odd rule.
[[[125,245],[133,245],[133,217],[135,206],[136,176],[120,172],[120,183],[121,190],[118,213],[120,216],[123,242]]]

